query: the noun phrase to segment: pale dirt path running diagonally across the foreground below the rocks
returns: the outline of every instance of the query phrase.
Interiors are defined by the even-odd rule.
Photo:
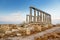
[[[51,33],[59,33],[60,32],[60,27],[53,27],[51,29],[36,33],[36,34],[32,34],[29,36],[21,36],[21,37],[7,37],[7,38],[1,38],[0,40],[60,40],[60,37],[56,37],[56,38],[48,38],[46,39],[46,37],[44,38],[45,35],[50,35]],[[41,38],[42,37],[42,38]],[[43,39],[44,38],[44,39]]]

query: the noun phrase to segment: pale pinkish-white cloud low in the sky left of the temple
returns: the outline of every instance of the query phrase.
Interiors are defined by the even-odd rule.
[[[25,17],[23,16],[22,12],[18,11],[18,12],[10,13],[7,16],[0,16],[0,21],[20,23],[25,21]]]

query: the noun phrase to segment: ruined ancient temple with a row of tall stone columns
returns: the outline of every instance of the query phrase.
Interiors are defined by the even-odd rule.
[[[30,7],[30,14],[26,15],[26,22],[51,24],[51,15],[35,7]]]

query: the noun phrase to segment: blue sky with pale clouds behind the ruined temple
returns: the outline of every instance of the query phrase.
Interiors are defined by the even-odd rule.
[[[52,15],[52,23],[60,23],[60,0],[0,0],[0,24],[21,23],[34,6]]]

